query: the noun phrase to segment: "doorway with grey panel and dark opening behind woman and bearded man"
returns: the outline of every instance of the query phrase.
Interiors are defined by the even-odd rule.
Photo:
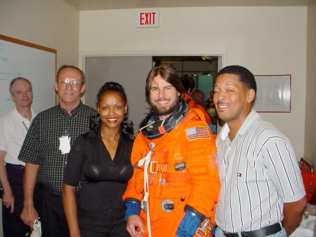
[[[155,66],[156,60],[160,60],[160,63],[163,62],[173,67],[179,73],[180,77],[200,75],[212,76],[215,79],[218,70],[222,68],[222,56],[220,55],[85,55],[83,59],[83,68],[86,75],[84,103],[95,108],[95,96],[103,83],[116,81],[122,84],[127,94],[129,118],[135,124],[134,129],[136,134],[138,131],[137,125],[148,113],[149,107],[145,98],[145,83],[148,72]],[[201,82],[201,79],[197,79],[197,88],[203,87],[200,87]],[[214,82],[207,80],[206,84],[213,87]],[[208,98],[208,95],[209,91],[205,91],[206,98]]]

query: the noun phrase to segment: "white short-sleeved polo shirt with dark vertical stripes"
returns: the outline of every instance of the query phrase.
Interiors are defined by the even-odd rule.
[[[283,203],[305,196],[290,141],[252,110],[231,142],[217,136],[221,190],[215,221],[223,231],[254,231],[283,219]]]

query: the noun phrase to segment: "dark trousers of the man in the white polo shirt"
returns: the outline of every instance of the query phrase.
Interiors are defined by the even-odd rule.
[[[23,209],[23,169],[12,168],[7,164],[5,166],[8,181],[14,196],[14,210],[11,213],[11,207],[6,208],[2,205],[2,227],[3,237],[25,237],[30,232],[30,228],[24,225],[20,215]]]

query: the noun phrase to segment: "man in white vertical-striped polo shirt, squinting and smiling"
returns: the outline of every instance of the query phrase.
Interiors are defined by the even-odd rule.
[[[306,205],[290,141],[252,109],[256,81],[241,66],[223,68],[214,103],[225,121],[217,137],[221,190],[216,237],[286,237]]]

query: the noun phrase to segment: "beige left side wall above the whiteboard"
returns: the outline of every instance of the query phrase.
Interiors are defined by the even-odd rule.
[[[57,49],[57,67],[78,65],[79,10],[63,0],[0,0],[0,34]]]

